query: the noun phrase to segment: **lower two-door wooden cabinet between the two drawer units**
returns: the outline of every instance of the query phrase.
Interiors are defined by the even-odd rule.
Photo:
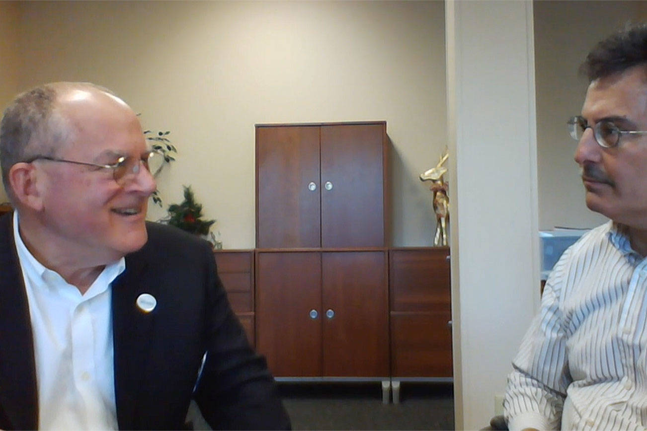
[[[256,251],[257,348],[276,377],[389,375],[386,258]]]

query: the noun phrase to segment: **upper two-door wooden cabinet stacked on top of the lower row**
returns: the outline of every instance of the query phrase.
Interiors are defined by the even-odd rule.
[[[256,247],[384,247],[386,123],[256,126]]]

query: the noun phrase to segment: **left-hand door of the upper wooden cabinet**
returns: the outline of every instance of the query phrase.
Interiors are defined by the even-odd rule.
[[[319,129],[256,128],[256,247],[320,246]]]

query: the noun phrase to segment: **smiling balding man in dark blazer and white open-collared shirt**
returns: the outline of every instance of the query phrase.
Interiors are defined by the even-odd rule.
[[[289,428],[211,247],[145,220],[159,156],[96,85],[41,85],[6,108],[0,429],[177,430],[192,399],[214,429]]]

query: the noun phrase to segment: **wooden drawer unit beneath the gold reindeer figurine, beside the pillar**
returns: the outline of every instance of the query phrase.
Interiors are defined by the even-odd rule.
[[[391,375],[452,377],[448,247],[389,251]]]

